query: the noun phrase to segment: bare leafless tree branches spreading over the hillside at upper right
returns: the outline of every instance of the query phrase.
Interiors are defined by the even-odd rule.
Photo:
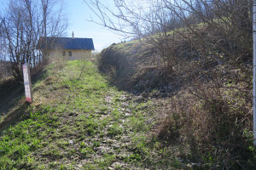
[[[113,0],[114,9],[99,0],[84,2],[94,13],[90,21],[125,37],[143,37],[166,62],[177,56],[172,47],[178,39],[188,40],[201,57],[218,48],[236,65],[251,59],[252,0]]]

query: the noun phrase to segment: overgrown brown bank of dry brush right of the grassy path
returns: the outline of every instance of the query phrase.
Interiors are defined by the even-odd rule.
[[[197,31],[206,39],[212,34],[207,26]],[[207,39],[202,51],[196,36],[192,45],[174,35],[113,44],[98,66],[117,87],[158,100],[164,118],[155,135],[169,146],[187,146],[181,155],[194,168],[253,169],[251,58],[239,48],[233,55],[228,45],[213,48],[217,39]],[[160,50],[153,43],[164,40]]]

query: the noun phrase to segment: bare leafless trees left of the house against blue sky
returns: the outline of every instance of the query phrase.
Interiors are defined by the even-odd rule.
[[[1,47],[7,48],[12,63],[11,74],[20,78],[21,64],[28,62],[35,68],[42,60],[37,50],[39,37],[60,36],[67,28],[62,15],[62,2],[56,9],[53,0],[9,1],[1,25]]]

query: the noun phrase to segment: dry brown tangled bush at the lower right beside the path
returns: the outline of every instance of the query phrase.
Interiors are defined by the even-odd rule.
[[[201,84],[172,98],[158,137],[189,144],[190,159],[201,167],[253,166],[252,104],[237,88]]]

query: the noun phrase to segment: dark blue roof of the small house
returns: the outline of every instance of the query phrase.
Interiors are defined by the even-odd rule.
[[[92,38],[72,38],[72,37],[40,37],[39,49],[88,49],[94,50]]]

